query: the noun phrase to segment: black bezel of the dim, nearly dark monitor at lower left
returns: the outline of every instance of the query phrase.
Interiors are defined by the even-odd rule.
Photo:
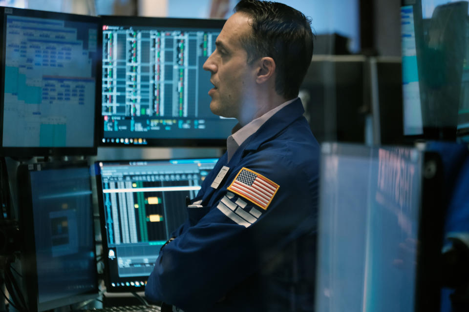
[[[85,300],[96,299],[99,296],[98,285],[98,271],[96,256],[94,257],[93,268],[96,270],[95,289],[75,295],[64,297],[61,299],[54,299],[46,302],[39,302],[38,295],[38,271],[36,260],[36,241],[34,234],[34,215],[33,203],[31,194],[31,172],[44,171],[44,170],[60,170],[70,168],[86,168],[88,171],[90,167],[87,161],[73,161],[73,162],[54,162],[54,163],[33,163],[21,164],[17,170],[18,191],[21,192],[19,196],[19,224],[22,234],[23,243],[21,245],[21,267],[24,278],[24,287],[27,294],[27,303],[31,311],[47,311],[70,304],[83,302]],[[92,179],[90,174],[90,189],[92,189]],[[91,229],[93,231],[93,238],[95,237],[95,226],[93,217],[92,195],[90,195],[90,220],[92,220]]]

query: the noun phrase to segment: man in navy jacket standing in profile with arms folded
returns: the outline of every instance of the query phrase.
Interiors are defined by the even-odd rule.
[[[210,108],[239,123],[145,294],[185,312],[312,311],[319,145],[298,98],[310,22],[281,3],[241,0],[215,44],[204,64]]]

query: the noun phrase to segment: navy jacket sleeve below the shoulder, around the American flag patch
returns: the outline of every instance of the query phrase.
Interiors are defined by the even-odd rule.
[[[150,300],[187,311],[208,308],[316,227],[317,175],[307,176],[308,171],[278,157],[254,158],[242,167],[279,185],[270,205],[263,210],[227,190],[241,170],[235,168],[209,205],[200,208],[206,215],[161,250],[145,289]]]

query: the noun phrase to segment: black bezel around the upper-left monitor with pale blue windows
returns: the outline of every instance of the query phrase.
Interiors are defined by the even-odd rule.
[[[101,103],[101,85],[102,85],[102,57],[100,51],[102,51],[102,28],[103,24],[99,17],[77,15],[68,13],[48,12],[41,10],[30,10],[30,9],[18,9],[11,7],[0,7],[0,15],[3,17],[0,21],[0,156],[12,156],[19,158],[27,158],[33,156],[89,156],[97,154],[98,146],[98,127],[97,121],[100,114],[99,103]],[[67,20],[76,22],[87,22],[96,23],[97,27],[97,55],[96,59],[96,94],[95,94],[95,105],[94,105],[94,120],[91,123],[94,127],[93,132],[93,145],[85,147],[4,147],[3,146],[3,109],[4,109],[4,88],[5,88],[5,32],[6,32],[6,15],[24,16],[31,18],[42,18],[42,19],[56,19],[56,20]]]

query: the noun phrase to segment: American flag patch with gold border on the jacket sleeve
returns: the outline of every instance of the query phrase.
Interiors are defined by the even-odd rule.
[[[279,186],[265,176],[247,168],[241,168],[228,190],[240,195],[266,210]]]

